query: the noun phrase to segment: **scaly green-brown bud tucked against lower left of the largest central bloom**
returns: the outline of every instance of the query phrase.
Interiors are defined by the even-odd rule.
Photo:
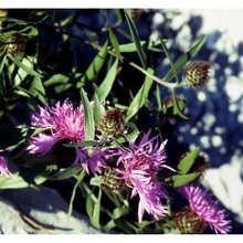
[[[102,172],[102,188],[118,194],[126,188],[126,182],[116,170],[109,167]]]

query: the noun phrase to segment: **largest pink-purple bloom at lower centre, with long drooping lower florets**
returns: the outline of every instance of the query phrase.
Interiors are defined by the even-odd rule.
[[[138,145],[131,140],[126,147],[126,151],[117,148],[117,166],[124,169],[117,169],[123,175],[128,187],[133,188],[131,198],[139,196],[138,221],[141,222],[145,211],[151,214],[156,220],[158,215],[165,216],[168,213],[167,207],[161,199],[168,199],[163,182],[159,181],[158,172],[166,166],[165,145],[159,145],[157,138],[149,139],[150,131],[144,135]],[[155,142],[156,140],[156,142]]]

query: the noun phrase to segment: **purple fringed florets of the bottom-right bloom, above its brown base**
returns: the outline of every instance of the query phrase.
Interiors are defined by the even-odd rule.
[[[189,201],[191,210],[200,220],[205,221],[215,233],[226,234],[231,231],[231,221],[225,220],[224,210],[220,210],[218,201],[199,184],[189,183],[178,191]]]

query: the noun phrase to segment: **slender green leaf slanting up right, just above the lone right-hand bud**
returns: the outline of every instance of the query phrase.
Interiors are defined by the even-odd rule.
[[[183,55],[181,55],[177,62],[173,64],[173,68],[171,67],[168,73],[166,74],[166,76],[163,77],[163,81],[168,82],[170,81],[173,76],[175,76],[175,72],[173,70],[178,73],[180,72],[183,66],[187,64],[187,62],[193,57],[202,47],[202,45],[205,42],[207,36],[204,35],[203,38],[201,38],[201,40],[188,52],[186,52]]]

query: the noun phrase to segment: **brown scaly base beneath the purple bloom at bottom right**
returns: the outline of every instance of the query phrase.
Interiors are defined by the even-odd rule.
[[[190,205],[173,213],[172,221],[181,234],[201,234],[208,226],[208,222],[201,220]]]

